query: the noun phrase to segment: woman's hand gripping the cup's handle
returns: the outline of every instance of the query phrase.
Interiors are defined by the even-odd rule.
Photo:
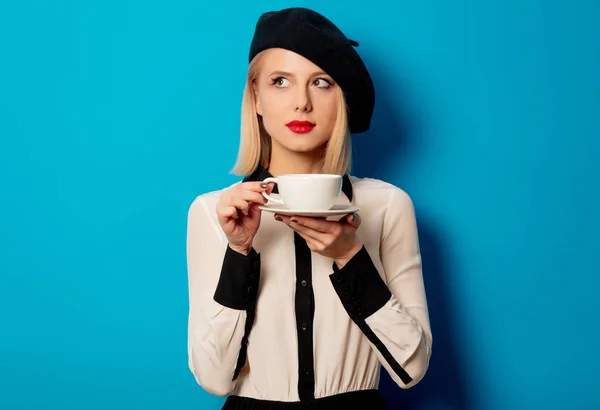
[[[219,224],[227,236],[229,247],[236,252],[248,255],[252,240],[260,226],[261,210],[267,200],[262,195],[272,188],[263,182],[242,182],[225,190],[219,197],[217,216]]]

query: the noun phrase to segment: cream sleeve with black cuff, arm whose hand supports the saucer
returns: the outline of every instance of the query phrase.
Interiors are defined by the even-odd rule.
[[[432,334],[413,203],[392,191],[384,218],[381,274],[362,248],[341,269],[334,263],[333,286],[352,320],[401,387],[417,384],[431,357]]]

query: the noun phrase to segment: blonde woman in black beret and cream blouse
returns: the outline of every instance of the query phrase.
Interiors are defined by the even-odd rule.
[[[348,175],[350,135],[369,128],[374,105],[356,46],[308,9],[262,15],[234,170],[245,178],[190,207],[189,366],[206,391],[229,395],[225,409],[384,409],[380,364],[401,388],[427,370],[412,202]],[[261,181],[298,173],[343,175],[339,203],[360,216],[263,214],[276,187]]]

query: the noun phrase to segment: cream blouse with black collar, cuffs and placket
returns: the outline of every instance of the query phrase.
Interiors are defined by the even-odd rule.
[[[267,176],[259,167],[244,181]],[[338,204],[360,208],[364,247],[341,269],[264,211],[251,254],[231,250],[221,192],[198,196],[188,214],[189,367],[207,392],[306,401],[377,389],[380,364],[401,388],[423,378],[432,334],[403,190],[344,177]]]

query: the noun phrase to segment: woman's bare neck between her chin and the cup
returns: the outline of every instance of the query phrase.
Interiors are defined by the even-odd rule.
[[[290,152],[273,144],[269,173],[282,174],[322,174],[323,152]]]

